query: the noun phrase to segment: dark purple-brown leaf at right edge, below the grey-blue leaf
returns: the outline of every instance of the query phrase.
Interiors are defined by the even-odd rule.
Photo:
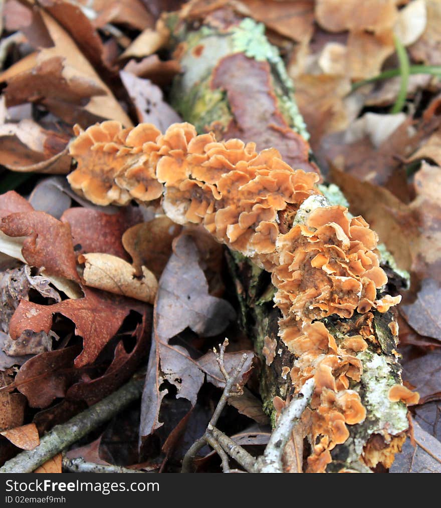
[[[403,380],[410,383],[420,394],[419,404],[441,398],[441,351],[410,360],[403,366]]]

